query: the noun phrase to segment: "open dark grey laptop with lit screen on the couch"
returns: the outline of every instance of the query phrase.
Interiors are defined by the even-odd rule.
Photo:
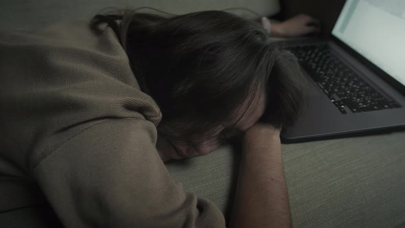
[[[331,38],[285,44],[309,99],[283,142],[405,130],[405,1],[348,0]]]

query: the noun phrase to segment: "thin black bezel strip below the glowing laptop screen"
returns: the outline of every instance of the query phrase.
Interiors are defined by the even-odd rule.
[[[337,21],[337,19],[336,19],[336,21]],[[336,25],[336,21],[335,21],[335,25]],[[380,76],[380,78],[382,78],[385,82],[390,84],[391,87],[393,87],[394,89],[396,89],[397,91],[402,93],[402,95],[405,95],[405,85],[401,84],[401,82],[397,81],[395,78],[390,76],[389,73],[386,73],[380,67],[373,64],[373,62],[371,62],[370,60],[368,60],[367,58],[365,58],[364,56],[362,56],[361,54],[356,52],[356,50],[349,47],[349,45],[347,45],[343,41],[340,41],[340,39],[337,38],[336,36],[334,36],[334,34],[332,34],[332,32],[330,33],[330,36],[331,36],[330,38],[332,39],[332,41],[334,41],[334,43],[336,43],[339,47],[342,47],[351,56],[353,56],[354,58],[359,60],[363,65],[365,65],[366,67],[371,69],[371,71],[373,71],[378,76]]]

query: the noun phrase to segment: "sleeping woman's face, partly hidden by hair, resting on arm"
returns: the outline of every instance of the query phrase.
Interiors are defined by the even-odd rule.
[[[254,104],[257,102],[255,109]],[[250,104],[244,102],[241,106],[241,115],[238,118],[238,122],[230,121],[224,122],[218,126],[216,133],[212,135],[201,137],[196,139],[198,146],[190,146],[188,144],[182,144],[178,142],[167,141],[164,137],[158,134],[157,150],[163,161],[169,161],[171,159],[186,159],[189,157],[195,157],[199,155],[207,155],[220,146],[221,137],[232,137],[244,133],[248,128],[253,126],[264,113],[266,108],[266,98],[264,94],[261,94],[253,100]],[[244,111],[247,110],[247,111]]]

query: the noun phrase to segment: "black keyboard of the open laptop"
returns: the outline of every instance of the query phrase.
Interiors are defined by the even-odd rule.
[[[358,74],[330,54],[327,45],[288,47],[302,67],[343,114],[400,108],[384,98]]]

